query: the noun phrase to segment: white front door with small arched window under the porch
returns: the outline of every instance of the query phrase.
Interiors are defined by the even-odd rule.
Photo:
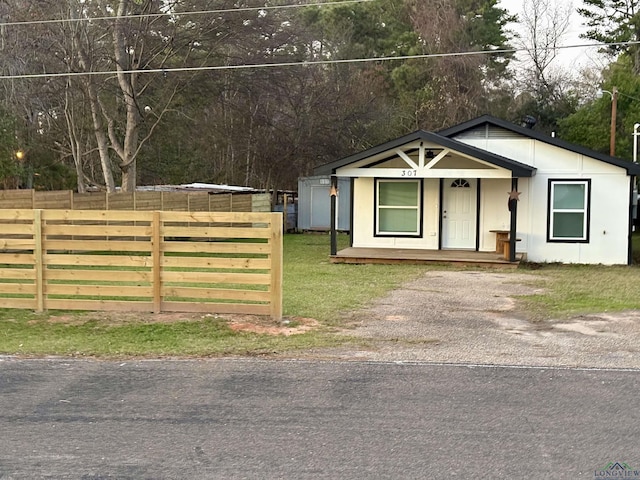
[[[442,248],[476,248],[477,179],[443,181]]]

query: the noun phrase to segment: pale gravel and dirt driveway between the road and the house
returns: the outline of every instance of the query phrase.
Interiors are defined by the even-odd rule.
[[[441,271],[353,315],[345,332],[369,340],[326,358],[443,363],[640,368],[640,311],[531,322],[518,295],[531,276]],[[320,352],[315,352],[316,354]]]

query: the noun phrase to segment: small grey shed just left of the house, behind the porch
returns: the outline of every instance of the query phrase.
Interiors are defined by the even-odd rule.
[[[331,229],[331,177],[317,175],[298,179],[298,229]],[[349,231],[351,225],[351,180],[338,179],[336,228]]]

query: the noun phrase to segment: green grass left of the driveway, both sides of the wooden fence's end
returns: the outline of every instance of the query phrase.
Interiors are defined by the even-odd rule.
[[[68,356],[219,356],[261,355],[337,346],[347,337],[332,334],[344,312],[366,304],[425,270],[417,266],[332,265],[328,235],[286,235],[284,245],[284,314],[314,318],[315,331],[274,336],[234,331],[223,318],[173,323],[112,323],[91,312],[64,312],[71,320],[52,322],[51,315],[0,310],[0,353]],[[340,237],[345,245],[346,236]],[[104,315],[103,315],[104,316]]]

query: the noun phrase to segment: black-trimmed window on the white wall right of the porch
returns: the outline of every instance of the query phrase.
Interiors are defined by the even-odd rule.
[[[549,241],[589,241],[590,187],[590,180],[549,180]]]

